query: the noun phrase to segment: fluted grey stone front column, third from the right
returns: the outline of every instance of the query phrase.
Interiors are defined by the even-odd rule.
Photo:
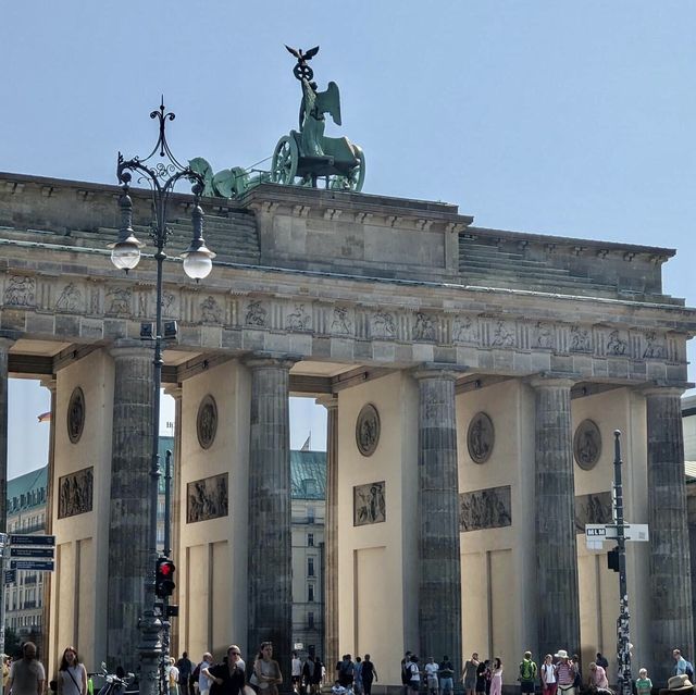
[[[453,371],[422,369],[419,385],[419,654],[461,669],[461,553]]]

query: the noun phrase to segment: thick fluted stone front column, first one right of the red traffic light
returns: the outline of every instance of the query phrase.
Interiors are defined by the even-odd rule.
[[[293,561],[290,533],[289,371],[295,360],[254,357],[249,440],[248,654],[273,642],[290,688]]]

